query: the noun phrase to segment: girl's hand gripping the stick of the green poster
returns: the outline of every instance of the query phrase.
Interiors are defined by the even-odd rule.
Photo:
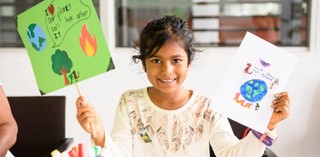
[[[92,129],[95,129],[97,136],[93,137],[96,145],[100,145],[103,147],[104,145],[104,126],[101,121],[101,118],[96,112],[95,108],[88,103],[83,96],[78,97],[76,100],[76,107],[77,107],[77,120],[81,127],[92,135]],[[93,124],[94,128],[91,128],[90,124]]]

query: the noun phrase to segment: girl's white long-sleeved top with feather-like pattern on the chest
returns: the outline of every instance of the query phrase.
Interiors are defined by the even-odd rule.
[[[252,133],[238,140],[226,117],[209,106],[212,99],[193,91],[176,110],[153,104],[147,88],[125,92],[117,107],[111,137],[105,146],[113,157],[262,156],[265,146]]]

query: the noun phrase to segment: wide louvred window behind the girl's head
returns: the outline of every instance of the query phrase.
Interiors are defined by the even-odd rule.
[[[238,46],[247,31],[279,46],[309,46],[309,0],[117,0],[115,8],[117,47],[132,46],[164,15],[187,20],[198,46]]]

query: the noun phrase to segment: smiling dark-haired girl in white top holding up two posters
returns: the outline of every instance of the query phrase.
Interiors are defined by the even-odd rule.
[[[239,141],[227,118],[210,108],[214,103],[211,97],[183,87],[197,51],[193,42],[191,30],[179,17],[165,16],[146,25],[140,36],[140,53],[133,59],[141,60],[152,86],[121,96],[111,136],[94,108],[83,97],[76,101],[83,129],[91,133],[89,124],[95,126],[97,136],[92,139],[96,145],[107,147],[111,156],[117,157],[208,157],[209,144],[217,156],[262,156],[261,134],[252,132]],[[289,105],[286,92],[276,95],[268,125],[270,136],[288,117]]]

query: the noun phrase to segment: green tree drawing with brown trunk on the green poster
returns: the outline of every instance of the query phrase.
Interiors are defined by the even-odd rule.
[[[51,61],[52,70],[56,74],[62,75],[64,78],[64,84],[68,85],[69,80],[67,77],[67,73],[69,73],[72,68],[72,60],[68,57],[67,52],[57,49],[55,54],[51,56]]]

